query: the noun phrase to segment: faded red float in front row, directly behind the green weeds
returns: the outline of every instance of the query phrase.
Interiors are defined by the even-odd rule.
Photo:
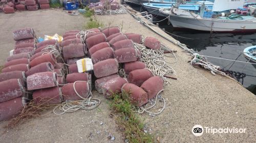
[[[135,106],[140,107],[147,103],[147,94],[139,86],[132,83],[125,83],[121,90],[123,94],[129,94],[130,100]]]

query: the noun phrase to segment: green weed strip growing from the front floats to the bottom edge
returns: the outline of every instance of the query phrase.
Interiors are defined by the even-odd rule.
[[[111,97],[110,107],[113,110],[115,120],[129,142],[154,142],[151,134],[143,131],[144,124],[131,104],[127,93],[115,93]]]

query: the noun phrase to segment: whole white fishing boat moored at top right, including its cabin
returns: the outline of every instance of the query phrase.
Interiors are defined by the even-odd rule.
[[[226,5],[221,5],[221,3]],[[223,11],[227,11],[227,9],[237,8],[240,6],[238,4],[243,6],[244,3],[240,1],[216,0],[212,11],[205,10],[205,6],[202,5],[198,13],[178,8],[159,9],[159,12],[165,15],[165,17],[168,17],[175,29],[225,33],[256,32],[255,17],[237,13],[222,13]],[[218,15],[220,12],[222,14]]]

